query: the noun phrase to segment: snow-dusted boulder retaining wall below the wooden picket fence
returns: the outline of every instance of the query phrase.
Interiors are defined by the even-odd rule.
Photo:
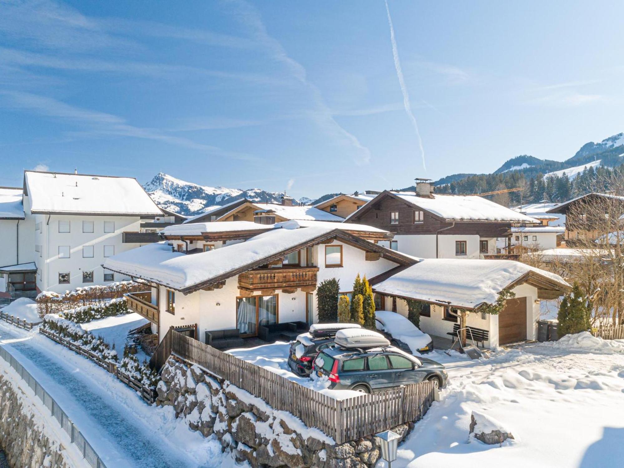
[[[170,358],[161,377],[156,404],[173,406],[176,417],[185,418],[204,437],[217,437],[223,451],[231,451],[237,461],[253,467],[350,468],[373,467],[379,459],[377,437],[337,445],[292,414],[276,411],[197,365]],[[392,430],[401,434],[401,442],[412,427],[402,424]]]

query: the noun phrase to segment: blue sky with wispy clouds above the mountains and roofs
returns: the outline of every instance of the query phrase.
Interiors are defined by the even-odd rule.
[[[403,87],[383,1],[0,0],[0,185],[162,171],[316,197],[624,130],[624,3],[389,11]]]

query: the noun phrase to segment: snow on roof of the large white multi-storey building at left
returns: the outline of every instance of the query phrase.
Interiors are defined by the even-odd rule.
[[[24,178],[33,213],[162,216],[135,178],[32,171]]]

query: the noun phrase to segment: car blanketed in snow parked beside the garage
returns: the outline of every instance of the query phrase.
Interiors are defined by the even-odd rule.
[[[375,319],[378,331],[391,336],[390,341],[393,346],[410,354],[424,354],[433,351],[431,336],[422,333],[401,314],[388,310],[378,310],[375,311]]]

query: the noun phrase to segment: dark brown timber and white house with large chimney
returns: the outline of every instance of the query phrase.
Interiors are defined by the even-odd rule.
[[[512,223],[539,223],[482,197],[436,194],[428,180],[419,180],[416,192],[386,190],[345,221],[394,233],[382,243],[392,250],[459,259],[494,256],[497,238],[508,238]]]

